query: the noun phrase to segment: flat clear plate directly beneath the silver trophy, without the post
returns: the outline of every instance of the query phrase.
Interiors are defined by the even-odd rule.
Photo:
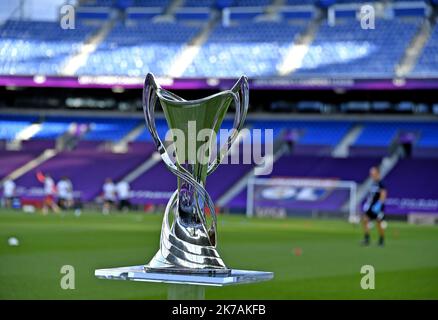
[[[223,270],[222,270],[223,271]],[[144,265],[121,268],[97,269],[94,275],[100,279],[131,280],[171,284],[190,284],[198,286],[227,286],[233,284],[267,281],[274,277],[273,272],[229,269],[228,274],[198,272],[168,272],[168,270],[145,269]]]

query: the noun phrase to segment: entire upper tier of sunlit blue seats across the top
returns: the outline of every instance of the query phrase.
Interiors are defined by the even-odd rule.
[[[109,34],[76,75],[123,75],[143,77],[148,72],[156,76],[183,77],[277,77],[284,70],[292,70],[290,77],[365,77],[393,78],[406,50],[425,21],[424,16],[388,16],[377,18],[375,29],[362,29],[354,17],[337,17],[335,25],[322,20],[316,37],[304,57],[286,59],[293,43],[308,30],[311,18],[260,20],[263,10],[255,17],[232,19],[222,24],[213,23],[206,41],[182,71],[172,74],[177,58],[185,45],[197,39],[205,30],[208,18],[192,17],[181,20],[178,10],[166,8],[175,2],[166,0],[81,2],[88,7],[121,8],[124,5],[160,7],[161,14],[170,19],[117,18]],[[334,1],[336,3],[365,1]],[[323,5],[333,1],[287,0],[284,5]],[[271,0],[185,0],[177,8],[222,5],[248,7],[266,6]],[[386,2],[388,3],[388,2]],[[179,5],[179,6],[178,6]],[[90,9],[90,8],[88,8]],[[311,9],[309,9],[311,10]],[[110,16],[110,15],[108,15]],[[121,15],[123,16],[123,15]],[[196,21],[194,21],[195,19]],[[87,21],[85,23],[84,21]],[[81,44],[101,30],[104,19],[90,24],[85,18],[77,19],[74,29],[62,29],[59,22],[9,20],[0,25],[0,74],[5,75],[60,75],[70,58],[78,53]],[[438,76],[438,27],[420,54],[410,76]],[[195,50],[196,52],[196,50]],[[301,52],[301,51],[300,51]],[[293,65],[288,65],[293,64]],[[179,67],[179,66],[178,66]],[[178,68],[176,68],[178,69]],[[178,69],[179,70],[179,69]],[[286,72],[287,73],[287,72]]]

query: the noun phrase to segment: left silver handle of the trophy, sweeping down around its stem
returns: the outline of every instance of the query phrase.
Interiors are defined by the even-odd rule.
[[[199,219],[202,221],[202,225],[206,234],[210,236],[210,242],[212,246],[216,246],[217,243],[217,216],[214,210],[213,200],[210,195],[207,193],[205,188],[198,181],[193,179],[192,175],[184,168],[179,165],[177,161],[173,161],[169,154],[167,153],[166,148],[164,147],[163,142],[158,136],[158,132],[155,126],[155,105],[158,100],[157,91],[160,90],[163,95],[167,97],[171,97],[178,101],[184,101],[184,99],[172,94],[169,91],[162,90],[159,85],[155,82],[154,76],[152,73],[148,73],[145,79],[144,89],[143,89],[143,111],[146,119],[146,125],[149,129],[149,132],[152,135],[154,143],[160,153],[161,159],[164,161],[166,167],[175,174],[178,178],[186,181],[190,184],[194,190],[204,199],[207,207],[210,211],[212,217],[212,223],[210,227],[208,227],[207,220],[205,215],[202,214],[201,208],[199,208],[199,204],[197,203],[198,210],[196,210]],[[208,230],[207,230],[208,229]]]

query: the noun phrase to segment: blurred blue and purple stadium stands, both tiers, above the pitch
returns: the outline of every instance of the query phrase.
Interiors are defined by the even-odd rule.
[[[15,180],[16,206],[41,207],[38,172],[68,176],[85,206],[95,205],[107,177],[131,184],[139,210],[165,205],[176,179],[154,157],[141,112],[152,72],[186,99],[247,75],[246,127],[274,131],[269,177],[354,185],[353,200],[348,188],[309,187],[303,199],[274,190],[286,201],[274,207],[288,214],[351,214],[373,165],[390,190],[389,217],[438,212],[437,1],[44,0],[0,8],[0,179]],[[157,127],[163,136],[161,116]],[[209,178],[218,209],[247,211],[254,167],[224,165]]]

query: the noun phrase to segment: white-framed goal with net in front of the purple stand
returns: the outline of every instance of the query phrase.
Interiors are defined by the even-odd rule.
[[[253,177],[247,190],[249,217],[343,216],[359,222],[354,181]]]

